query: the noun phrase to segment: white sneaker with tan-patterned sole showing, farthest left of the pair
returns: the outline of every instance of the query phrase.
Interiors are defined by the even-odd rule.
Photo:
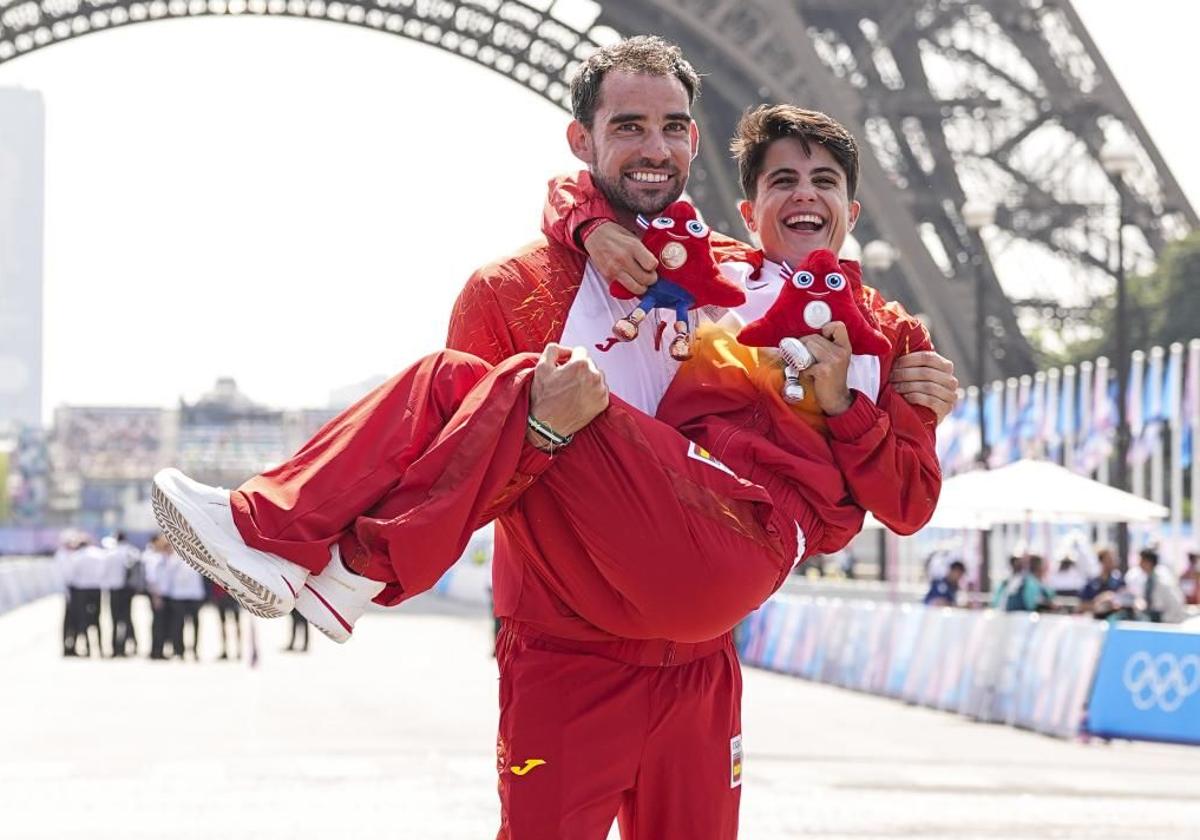
[[[228,490],[163,469],[154,476],[150,500],[158,527],[190,566],[256,616],[292,612],[308,570],[246,545],[233,521]]]

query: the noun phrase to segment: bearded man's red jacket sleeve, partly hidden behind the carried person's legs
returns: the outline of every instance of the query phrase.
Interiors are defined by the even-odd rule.
[[[505,311],[493,284],[503,278],[503,269],[480,269],[458,294],[450,313],[446,347],[479,356],[490,365],[498,365],[516,355],[517,348],[506,326]],[[476,528],[481,528],[511,508],[521,494],[554,462],[528,440],[512,478],[482,510]]]

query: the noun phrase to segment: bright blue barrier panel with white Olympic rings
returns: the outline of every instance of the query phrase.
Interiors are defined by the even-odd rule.
[[[1200,634],[1116,625],[1100,654],[1087,730],[1200,744]]]

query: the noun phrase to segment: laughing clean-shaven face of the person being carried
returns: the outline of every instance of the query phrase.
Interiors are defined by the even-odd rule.
[[[738,206],[763,253],[776,263],[798,265],[817,248],[839,253],[858,221],[859,204],[850,200],[841,166],[824,146],[809,148],[811,155],[793,137],[773,142],[763,156],[756,198]]]

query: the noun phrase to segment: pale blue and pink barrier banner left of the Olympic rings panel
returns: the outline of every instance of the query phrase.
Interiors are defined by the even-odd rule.
[[[739,626],[738,649],[748,665],[1072,737],[1105,631],[1067,616],[778,594]]]

